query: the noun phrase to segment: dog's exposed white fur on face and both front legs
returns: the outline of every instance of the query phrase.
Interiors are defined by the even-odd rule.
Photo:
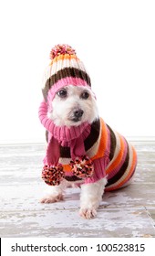
[[[66,91],[66,96],[59,95]],[[57,91],[51,103],[51,112],[48,117],[57,126],[76,126],[81,123],[92,123],[98,118],[98,107],[94,93],[84,86],[67,85],[67,87]],[[63,93],[62,93],[63,94]],[[85,99],[87,95],[88,98]],[[82,111],[81,116],[75,120],[75,112]],[[54,203],[63,199],[63,193],[68,182],[63,180],[59,186],[48,187],[50,192],[41,199],[41,203]],[[107,179],[102,178],[95,183],[81,185],[80,210],[79,215],[85,219],[91,219],[97,215],[97,208],[104,193]]]

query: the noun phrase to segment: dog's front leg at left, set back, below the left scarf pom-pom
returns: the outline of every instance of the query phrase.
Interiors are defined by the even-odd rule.
[[[51,204],[63,200],[63,192],[65,188],[65,180],[63,180],[58,186],[48,186],[47,195],[40,199],[40,203]]]

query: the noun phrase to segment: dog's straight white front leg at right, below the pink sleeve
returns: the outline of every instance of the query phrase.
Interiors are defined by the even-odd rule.
[[[79,215],[85,219],[91,219],[97,215],[97,208],[102,199],[107,178],[102,178],[95,183],[81,186]]]

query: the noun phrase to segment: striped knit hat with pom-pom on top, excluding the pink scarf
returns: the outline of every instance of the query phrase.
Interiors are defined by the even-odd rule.
[[[44,77],[43,96],[49,103],[55,93],[69,85],[91,87],[90,78],[76,51],[68,45],[57,45],[50,52],[51,63]]]

